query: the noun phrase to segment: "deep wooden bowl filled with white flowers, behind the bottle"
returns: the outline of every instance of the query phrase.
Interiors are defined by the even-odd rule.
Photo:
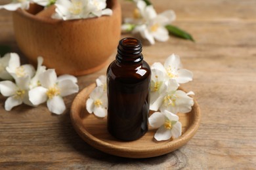
[[[43,65],[58,75],[93,73],[106,65],[121,35],[118,0],[107,1],[107,7],[112,16],[68,21],[51,18],[54,6],[19,9],[12,14],[16,42],[33,65],[43,56]]]

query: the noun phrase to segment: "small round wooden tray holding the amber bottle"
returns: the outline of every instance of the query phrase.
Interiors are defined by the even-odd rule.
[[[181,137],[169,141],[156,141],[156,129],[149,126],[148,132],[140,139],[131,142],[119,141],[108,133],[106,117],[96,118],[86,110],[85,103],[95,86],[91,84],[77,94],[72,103],[70,117],[75,131],[86,143],[108,154],[126,158],[150,158],[167,154],[186,144],[199,127],[200,108],[194,100],[191,112],[178,114],[182,124]]]

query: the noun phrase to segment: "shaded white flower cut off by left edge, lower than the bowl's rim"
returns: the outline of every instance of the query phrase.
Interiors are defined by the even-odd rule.
[[[3,80],[11,80],[12,76],[7,72],[6,67],[9,65],[10,53],[0,58],[0,78]]]

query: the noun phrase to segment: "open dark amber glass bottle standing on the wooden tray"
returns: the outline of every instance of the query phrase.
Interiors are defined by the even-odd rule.
[[[108,131],[124,141],[148,131],[151,71],[141,52],[138,39],[121,39],[107,70]]]

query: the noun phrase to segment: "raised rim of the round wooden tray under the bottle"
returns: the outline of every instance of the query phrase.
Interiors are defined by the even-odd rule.
[[[90,90],[93,90],[93,88],[95,88],[95,86],[96,86],[95,83],[90,84],[89,86],[84,88],[81,92],[79,92],[77,94],[77,96],[75,97],[75,99],[72,103],[71,110],[70,110],[70,118],[72,120],[72,125],[74,126],[77,133],[80,135],[80,137],[85,142],[87,142],[91,146],[97,148],[98,150],[102,150],[103,152],[106,152],[104,150],[104,148],[111,148],[112,150],[116,150],[117,152],[127,152],[127,148],[124,148],[119,145],[107,143],[107,142],[102,141],[102,140],[98,139],[97,137],[91,135],[91,133],[89,133],[83,127],[83,123],[81,122],[81,119],[78,116],[79,114],[77,114],[74,111],[74,109],[75,109],[74,103],[79,101],[79,97],[88,97],[88,95],[83,96],[84,93],[89,92]],[[160,156],[163,154],[167,154],[169,152],[172,152],[173,150],[176,150],[177,148],[180,148],[181,146],[186,144],[195,135],[196,131],[198,130],[198,127],[200,126],[201,111],[200,111],[198,102],[195,99],[194,99],[194,106],[192,107],[192,110],[194,110],[193,122],[192,122],[192,124],[190,124],[189,128],[186,129],[186,131],[184,133],[182,133],[181,137],[174,139],[172,141],[169,141],[168,143],[164,143],[164,144],[161,144],[161,141],[160,141],[159,144],[157,144],[158,146],[155,146],[154,148],[129,148],[129,153],[131,154],[130,156],[123,156],[123,154],[114,154],[114,155],[123,156],[123,157],[127,157],[127,158],[150,158],[150,157],[154,157],[154,156]],[[154,154],[152,156],[146,156],[146,157],[135,156],[135,154],[137,152],[148,153],[148,152],[156,152],[156,151],[160,151],[160,153]],[[113,153],[109,153],[109,154],[113,154]]]

